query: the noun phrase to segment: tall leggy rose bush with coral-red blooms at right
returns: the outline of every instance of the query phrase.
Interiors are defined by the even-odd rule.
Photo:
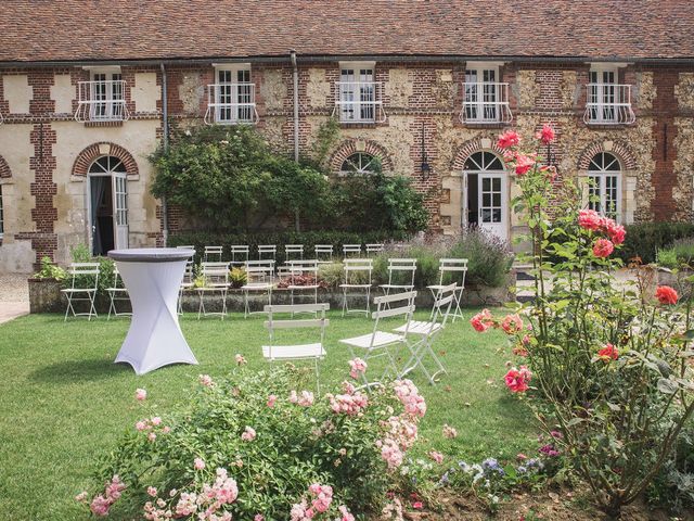
[[[506,373],[509,390],[529,392],[553,436],[548,453],[564,454],[596,505],[619,517],[646,490],[694,412],[690,302],[677,307],[679,296],[668,287],[654,294],[637,264],[634,283],[615,282],[625,228],[581,208],[569,181],[556,183],[539,156],[553,132],[545,128],[538,139],[535,152],[522,152],[515,132],[498,142],[516,171],[522,193],[513,205],[535,245],[535,302],[505,318],[485,309],[471,325],[509,334],[523,364]]]

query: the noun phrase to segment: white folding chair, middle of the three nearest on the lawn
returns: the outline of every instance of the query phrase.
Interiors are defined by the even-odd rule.
[[[370,364],[374,358],[385,357],[385,369],[380,380],[370,381],[365,373],[361,374],[363,384],[362,387],[372,387],[380,385],[388,373],[391,378],[397,378],[400,373],[396,364],[397,347],[399,345],[407,345],[408,333],[410,322],[412,321],[412,315],[414,314],[414,298],[416,291],[407,291],[403,293],[395,293],[393,295],[377,296],[373,300],[377,306],[376,310],[372,313],[374,319],[373,331],[360,336],[354,336],[350,339],[343,339],[339,342],[349,346],[352,358],[360,356],[367,364]],[[391,307],[395,306],[395,307]],[[402,320],[401,332],[381,331],[378,326],[382,326],[382,319],[384,318],[399,318]],[[390,348],[396,348],[395,353],[390,353]],[[370,374],[373,374],[373,368]]]

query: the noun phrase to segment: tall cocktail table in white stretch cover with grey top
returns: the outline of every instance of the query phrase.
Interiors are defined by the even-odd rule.
[[[192,250],[113,250],[132,304],[132,321],[116,364],[144,374],[168,364],[197,364],[178,323],[178,292]]]

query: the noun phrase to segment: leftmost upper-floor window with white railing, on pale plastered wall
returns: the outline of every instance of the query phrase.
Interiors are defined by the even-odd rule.
[[[128,119],[125,81],[120,67],[89,69],[89,81],[79,81],[78,122],[123,122]]]

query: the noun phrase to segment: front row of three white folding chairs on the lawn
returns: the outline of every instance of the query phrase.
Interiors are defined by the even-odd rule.
[[[414,320],[414,298],[416,291],[406,291],[383,295],[374,298],[376,310],[371,314],[374,321],[370,333],[343,339],[339,342],[348,346],[351,357],[362,358],[371,370],[360,373],[361,387],[378,385],[387,377],[402,378],[420,368],[430,384],[436,383],[439,374],[446,373],[441,360],[434,351],[434,341],[444,330],[448,321],[451,307],[455,302],[457,283],[441,285],[435,295],[429,320]],[[266,305],[264,312],[268,314],[265,327],[269,331],[270,341],[262,346],[262,356],[273,361],[311,360],[316,370],[317,389],[320,393],[319,361],[326,356],[324,346],[325,328],[330,320],[325,318],[329,304],[298,304],[298,305]],[[294,319],[299,313],[313,313],[313,319]],[[278,319],[278,315],[290,315],[292,318]],[[395,328],[384,328],[387,319],[398,319]],[[278,342],[278,330],[313,328],[319,331],[313,342],[281,343]],[[414,338],[414,340],[412,340]],[[407,348],[407,363],[398,366],[398,352]],[[385,358],[380,379],[373,361]]]

